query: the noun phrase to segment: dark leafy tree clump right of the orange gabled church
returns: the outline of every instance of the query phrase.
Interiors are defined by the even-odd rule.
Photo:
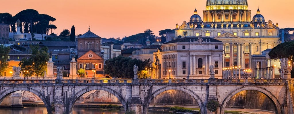
[[[120,77],[120,78],[133,78],[133,66],[138,66],[138,71],[141,71],[146,68],[146,66],[151,65],[151,60],[138,60],[131,59],[130,57],[118,56],[112,59],[108,59],[105,62],[105,73],[109,74],[111,77]]]

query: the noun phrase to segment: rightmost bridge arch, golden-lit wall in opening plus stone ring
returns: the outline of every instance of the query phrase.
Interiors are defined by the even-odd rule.
[[[269,91],[257,87],[246,86],[241,87],[225,97],[220,107],[221,114],[224,114],[228,108],[244,108],[242,109],[259,109],[274,111],[276,114],[282,113],[282,107],[277,98]]]

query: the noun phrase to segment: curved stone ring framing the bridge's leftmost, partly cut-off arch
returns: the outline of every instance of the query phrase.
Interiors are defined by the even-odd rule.
[[[40,92],[38,92],[37,90],[32,89],[32,88],[30,88],[28,86],[26,86],[26,87],[16,86],[16,87],[10,87],[8,89],[5,89],[0,94],[0,102],[2,102],[5,99],[5,97],[7,97],[9,94],[11,94],[13,92],[16,92],[16,91],[28,91],[28,92],[32,92],[33,94],[37,95],[43,101],[43,103],[45,104],[48,114],[52,113],[49,96],[46,97],[41,93],[41,90],[40,90]]]

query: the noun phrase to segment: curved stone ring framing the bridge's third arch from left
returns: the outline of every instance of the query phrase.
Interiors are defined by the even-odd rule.
[[[200,111],[202,114],[206,114],[206,107],[203,104],[202,100],[199,98],[199,96],[191,91],[190,89],[186,88],[186,87],[181,87],[181,86],[165,86],[165,87],[161,87],[158,90],[154,91],[149,97],[148,97],[148,103],[146,104],[146,109],[144,108],[145,111],[148,110],[148,106],[150,104],[150,102],[152,101],[152,99],[154,99],[158,94],[165,92],[167,90],[180,90],[183,92],[186,92],[188,94],[190,94],[198,103]],[[147,113],[147,112],[146,112]]]

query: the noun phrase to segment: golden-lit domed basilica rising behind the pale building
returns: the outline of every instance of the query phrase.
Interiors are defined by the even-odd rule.
[[[278,23],[266,22],[259,8],[252,18],[250,15],[247,0],[207,0],[203,20],[195,9],[189,22],[176,24],[175,38],[203,36],[219,40],[223,43],[222,67],[255,69],[250,57],[275,47],[280,38]]]

